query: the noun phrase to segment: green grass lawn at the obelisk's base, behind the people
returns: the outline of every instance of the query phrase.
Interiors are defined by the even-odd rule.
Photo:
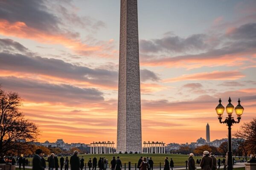
[[[113,156],[119,156],[123,167],[124,164],[126,163],[126,167],[128,167],[128,162],[131,161],[131,167],[135,167],[135,163],[137,164],[138,160],[140,159],[140,156],[144,156],[144,157],[152,157],[152,160],[154,161],[154,166],[155,167],[159,167],[159,164],[161,162],[161,167],[163,167],[163,162],[165,157],[167,156],[169,158],[169,160],[172,158],[174,161],[174,166],[186,166],[185,161],[189,158],[188,155],[179,155],[179,154],[86,154],[86,155],[79,155],[79,157],[81,158],[82,156],[84,156],[84,163],[87,164],[89,158],[93,159],[94,157],[97,158],[97,161],[99,161],[99,157],[105,157],[106,159],[108,159],[108,163],[110,166],[110,161],[112,160]],[[32,158],[28,158],[30,161],[30,165],[32,165]],[[45,159],[47,159],[45,157]],[[60,159],[60,156],[58,156],[58,160]],[[69,156],[70,159],[70,156]],[[194,157],[195,161],[196,159],[202,159],[202,157]],[[222,158],[221,158],[222,160]],[[47,166],[48,166],[48,162]]]

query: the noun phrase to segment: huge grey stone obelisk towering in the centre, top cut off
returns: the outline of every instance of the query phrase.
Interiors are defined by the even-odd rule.
[[[142,152],[137,0],[121,0],[116,152]]]

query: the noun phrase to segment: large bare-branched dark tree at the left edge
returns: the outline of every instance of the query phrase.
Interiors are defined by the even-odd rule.
[[[6,93],[0,87],[0,153],[24,149],[39,134],[38,127],[19,111],[21,101],[17,93]]]

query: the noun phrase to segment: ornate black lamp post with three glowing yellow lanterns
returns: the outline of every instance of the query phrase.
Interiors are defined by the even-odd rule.
[[[235,121],[234,117],[232,117],[232,113],[234,111],[234,106],[231,104],[231,99],[228,99],[229,104],[226,106],[226,112],[228,117],[222,122],[222,114],[224,113],[224,106],[221,105],[221,99],[219,100],[218,106],[215,108],[216,113],[218,114],[218,119],[220,123],[225,123],[228,126],[228,155],[227,155],[227,170],[233,170],[233,160],[232,160],[232,143],[231,143],[231,126],[234,123],[239,123],[241,119],[241,115],[243,114],[244,108],[240,105],[240,99],[238,100],[238,105],[235,108],[236,115],[238,121]]]

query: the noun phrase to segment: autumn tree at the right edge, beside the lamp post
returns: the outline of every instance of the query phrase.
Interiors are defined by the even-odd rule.
[[[234,134],[236,138],[243,139],[238,141],[239,146],[243,148],[244,154],[256,153],[256,118],[250,122],[241,125],[240,130]]]

